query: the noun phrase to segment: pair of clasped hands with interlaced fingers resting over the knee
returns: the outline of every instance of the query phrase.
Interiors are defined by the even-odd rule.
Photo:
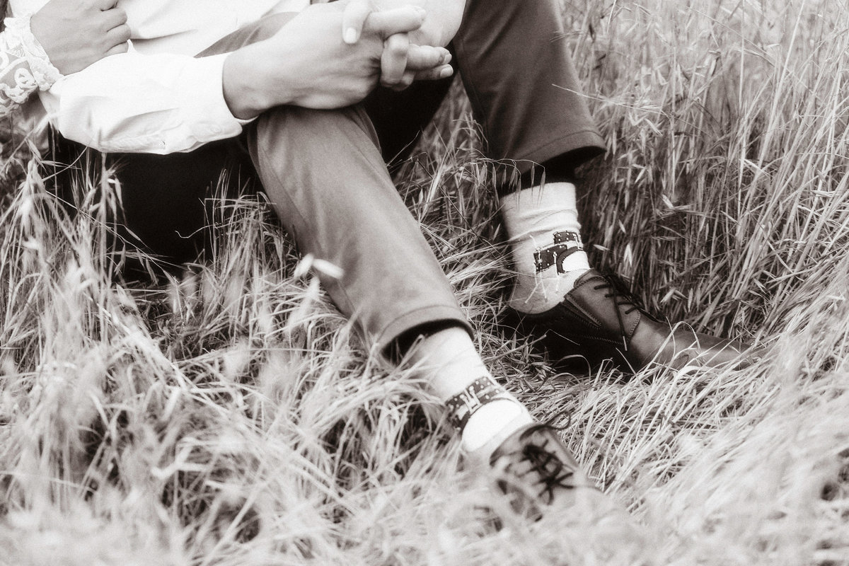
[[[447,49],[410,41],[422,30],[426,10],[409,4],[375,9],[376,1],[312,4],[268,39],[230,53],[223,91],[233,115],[249,119],[283,105],[344,108],[366,98],[379,81],[402,88],[413,80],[450,76]],[[439,1],[459,6],[446,13],[462,16],[464,0]],[[441,26],[447,33],[439,42],[447,44],[456,32],[451,28],[459,21],[453,20]]]

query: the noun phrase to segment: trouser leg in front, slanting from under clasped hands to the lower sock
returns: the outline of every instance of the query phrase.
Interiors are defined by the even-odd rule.
[[[338,278],[320,276],[369,343],[382,348],[437,322],[469,328],[361,107],[270,110],[256,120],[249,149],[301,253],[342,269]]]

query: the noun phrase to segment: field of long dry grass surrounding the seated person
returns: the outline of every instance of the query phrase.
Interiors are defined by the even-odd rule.
[[[398,184],[486,360],[645,525],[646,563],[849,564],[849,8],[576,0],[565,17],[610,144],[583,173],[593,261],[767,356],[555,375],[504,337],[492,190],[454,97]],[[69,217],[14,149],[0,563],[621,563],[604,559],[620,541],[527,524],[462,469],[435,401],[368,356],[261,203],[221,203],[205,266],[121,285],[109,183]]]

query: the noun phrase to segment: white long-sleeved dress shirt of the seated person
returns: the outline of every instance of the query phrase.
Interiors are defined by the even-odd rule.
[[[11,0],[14,15],[47,0]],[[105,152],[170,154],[239,135],[245,120],[222,92],[226,54],[196,59],[212,43],[266,14],[299,12],[309,0],[119,0],[128,53],[100,59],[40,97],[68,139]]]

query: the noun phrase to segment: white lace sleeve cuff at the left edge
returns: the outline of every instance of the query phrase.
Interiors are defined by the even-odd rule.
[[[0,115],[24,104],[37,90],[46,91],[61,74],[30,31],[29,18],[7,18],[0,32]]]

